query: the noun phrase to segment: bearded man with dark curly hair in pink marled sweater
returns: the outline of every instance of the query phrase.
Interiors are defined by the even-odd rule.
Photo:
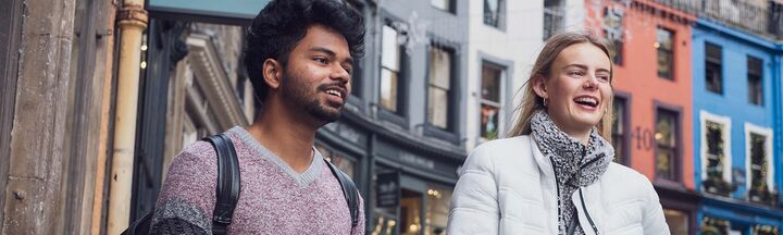
[[[249,127],[225,133],[241,175],[227,232],[364,234],[362,200],[352,227],[340,185],[313,148],[318,128],[340,116],[350,94],[362,16],[338,0],[273,0],[246,36],[245,65],[263,108]],[[186,147],[172,162],[151,232],[210,234],[216,175],[210,144]]]

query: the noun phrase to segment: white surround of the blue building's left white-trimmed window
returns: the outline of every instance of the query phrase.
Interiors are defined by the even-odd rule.
[[[707,121],[723,125],[723,181],[731,183],[732,156],[731,156],[731,118],[713,114],[707,111],[699,111],[701,128],[701,180],[707,180]]]

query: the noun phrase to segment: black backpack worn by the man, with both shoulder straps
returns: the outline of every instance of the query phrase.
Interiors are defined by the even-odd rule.
[[[217,200],[212,213],[212,234],[226,234],[228,225],[232,223],[234,208],[239,200],[239,160],[232,140],[225,134],[208,136],[201,140],[212,144],[217,153]],[[326,159],[324,161],[343,189],[343,196],[348,202],[351,215],[351,227],[356,227],[359,225],[359,194],[356,184],[348,174],[337,169],[332,162]],[[154,210],[135,221],[122,235],[148,234],[153,212]]]

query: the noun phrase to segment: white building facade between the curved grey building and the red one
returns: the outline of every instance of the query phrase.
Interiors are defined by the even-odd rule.
[[[582,27],[583,1],[471,1],[465,147],[508,135],[538,51]],[[521,24],[525,22],[525,24]]]

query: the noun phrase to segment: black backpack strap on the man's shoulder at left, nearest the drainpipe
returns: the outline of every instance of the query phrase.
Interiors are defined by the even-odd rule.
[[[239,160],[228,136],[217,134],[203,138],[217,153],[217,200],[212,213],[212,234],[226,234],[239,200]]]

